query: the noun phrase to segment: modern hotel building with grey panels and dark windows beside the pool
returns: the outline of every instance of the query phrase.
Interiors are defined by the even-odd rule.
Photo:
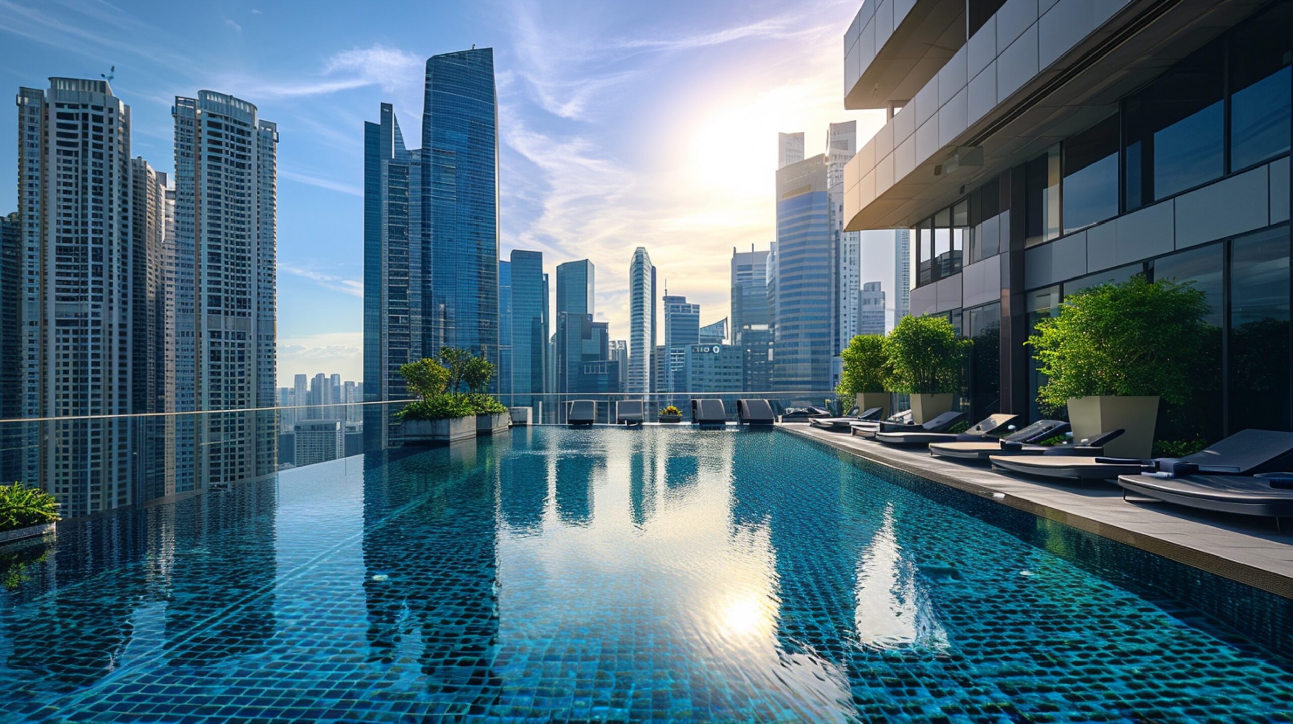
[[[1037,414],[1023,342],[1064,296],[1142,274],[1215,334],[1164,439],[1290,427],[1293,4],[881,0],[844,37],[847,230],[909,227],[914,315],[975,339],[962,405]]]

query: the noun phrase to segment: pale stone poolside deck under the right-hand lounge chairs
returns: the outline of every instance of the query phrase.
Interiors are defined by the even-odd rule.
[[[893,448],[804,423],[777,427],[1293,599],[1293,525],[1285,525],[1280,534],[1271,519],[1214,515],[1148,499],[1124,501],[1121,488],[1108,483],[1038,481],[996,472],[987,463],[936,458],[924,448]]]

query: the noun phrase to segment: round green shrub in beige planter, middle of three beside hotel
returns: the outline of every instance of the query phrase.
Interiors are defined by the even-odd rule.
[[[895,392],[912,396],[912,419],[923,423],[952,409],[972,342],[941,316],[905,316],[884,338]]]

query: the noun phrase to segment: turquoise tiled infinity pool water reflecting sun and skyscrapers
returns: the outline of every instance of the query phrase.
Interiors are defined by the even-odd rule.
[[[1036,525],[776,431],[349,458],[10,552],[0,718],[1290,720],[1287,663]]]

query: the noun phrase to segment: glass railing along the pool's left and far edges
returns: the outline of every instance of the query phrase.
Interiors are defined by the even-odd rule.
[[[574,400],[592,400],[599,423],[615,422],[617,403],[640,400],[646,423],[661,422],[661,410],[674,405],[687,425],[692,399],[718,399],[736,422],[737,400],[753,397],[768,400],[786,419],[839,412],[829,391],[499,395],[509,408],[530,408],[529,425],[565,425]],[[414,444],[396,418],[409,401],[0,419],[0,481],[53,493],[63,518],[221,490],[279,470]]]

